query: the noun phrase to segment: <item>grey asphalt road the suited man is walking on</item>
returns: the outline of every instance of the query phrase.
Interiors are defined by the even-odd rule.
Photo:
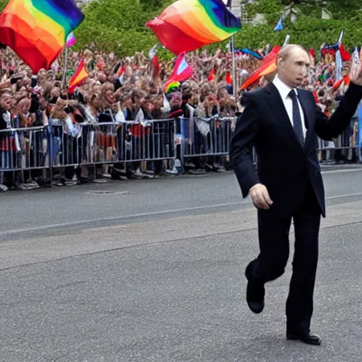
[[[290,266],[248,310],[255,210],[221,174],[1,194],[0,361],[360,361],[362,170],[323,177],[322,346],[285,339]]]

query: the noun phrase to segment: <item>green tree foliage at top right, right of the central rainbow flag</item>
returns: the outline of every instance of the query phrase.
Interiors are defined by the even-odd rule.
[[[284,30],[274,31],[276,23],[288,6],[298,10],[297,22],[291,23],[288,18],[284,18]],[[333,19],[322,20],[322,7],[332,12]],[[336,42],[341,29],[344,29],[344,45],[352,49],[362,45],[362,12],[357,11],[360,7],[361,0],[259,0],[245,6],[247,18],[255,13],[263,13],[267,23],[243,25],[242,31],[235,37],[235,42],[238,46],[251,48],[261,47],[267,42],[282,45],[289,34],[291,42],[318,49],[323,42]]]

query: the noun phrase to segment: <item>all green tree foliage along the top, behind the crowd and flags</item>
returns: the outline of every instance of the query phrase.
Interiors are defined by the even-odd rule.
[[[157,38],[145,23],[157,16],[174,0],[100,0],[93,1],[83,8],[86,19],[76,30],[77,45],[81,49],[93,42],[95,47],[107,52],[115,52],[119,56],[127,56],[134,52],[148,50],[156,44]],[[0,9],[8,0],[0,0]],[[322,3],[332,12],[332,20],[321,19]],[[279,17],[286,6],[298,8],[298,21],[283,21],[284,30],[274,31]],[[247,4],[247,16],[263,13],[267,23],[263,25],[243,25],[243,29],[235,35],[235,47],[257,49],[267,43],[282,45],[287,34],[291,42],[305,47],[318,49],[322,42],[334,43],[339,32],[344,29],[344,45],[351,49],[362,45],[362,7],[361,0],[259,0],[255,4]],[[224,47],[224,42],[221,47]],[[209,49],[216,49],[212,45]],[[165,49],[160,50],[161,57],[173,57]]]

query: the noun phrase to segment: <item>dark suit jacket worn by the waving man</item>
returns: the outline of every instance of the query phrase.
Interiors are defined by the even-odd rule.
[[[305,116],[305,147],[300,145],[283,100],[273,83],[258,91],[245,93],[245,110],[236,122],[231,138],[230,158],[243,197],[257,183],[265,185],[271,212],[292,216],[308,185],[312,185],[325,217],[325,192],[317,160],[317,136],[332,140],[346,129],[362,98],[362,87],[353,83],[332,117],[327,119],[315,104],[313,93],[298,90]],[[252,145],[257,151],[257,172],[252,160]]]

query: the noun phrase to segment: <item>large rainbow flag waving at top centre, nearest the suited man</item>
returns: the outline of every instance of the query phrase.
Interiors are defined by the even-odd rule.
[[[241,21],[222,0],[179,0],[146,26],[178,55],[228,39],[241,29]]]

